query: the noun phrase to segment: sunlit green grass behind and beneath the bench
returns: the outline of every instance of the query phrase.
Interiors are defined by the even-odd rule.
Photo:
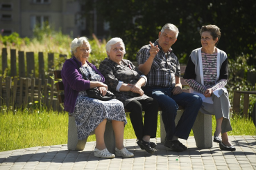
[[[53,111],[28,110],[0,113],[0,151],[23,149],[28,147],[51,146],[67,144],[68,114],[55,113]],[[124,138],[136,138],[133,126],[128,117]],[[244,117],[233,116],[233,131],[229,135],[255,135],[253,121]],[[216,121],[213,116],[213,133]],[[192,131],[190,135],[193,135]],[[160,138],[160,116],[158,116],[157,138]],[[95,141],[95,135],[91,135],[88,141]]]

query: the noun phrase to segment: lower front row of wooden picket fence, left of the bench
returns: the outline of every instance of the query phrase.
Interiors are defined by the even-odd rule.
[[[0,77],[0,106],[7,108],[39,108],[45,106],[53,111],[62,111],[62,106],[57,100],[58,93],[54,86],[54,80],[38,79],[35,84],[35,78]],[[50,83],[50,84],[49,84]]]

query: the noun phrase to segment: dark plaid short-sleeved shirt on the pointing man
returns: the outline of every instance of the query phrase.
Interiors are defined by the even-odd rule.
[[[154,46],[158,45],[160,48],[157,55],[153,60],[151,70],[146,77],[148,82],[146,86],[157,87],[174,87],[176,85],[175,76],[180,77],[180,63],[178,58],[170,48],[167,57],[165,57],[164,51],[158,44],[158,40],[155,41]],[[137,53],[138,64],[144,64],[148,59],[151,45],[143,46]]]

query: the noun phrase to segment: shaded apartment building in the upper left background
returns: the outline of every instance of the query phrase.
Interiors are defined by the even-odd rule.
[[[88,12],[87,19],[82,17],[81,8],[79,0],[0,0],[0,33],[33,37],[36,25],[49,23],[51,28],[72,37],[105,35],[108,23],[97,19],[94,9]]]

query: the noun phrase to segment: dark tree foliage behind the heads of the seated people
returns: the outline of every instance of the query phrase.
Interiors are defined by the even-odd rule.
[[[214,24],[221,28],[218,48],[231,59],[248,57],[256,65],[256,1],[254,0],[97,0],[83,1],[85,11],[96,8],[110,22],[111,37],[121,37],[128,59],[135,60],[137,51],[155,41],[165,23],[175,24],[180,34],[173,45],[174,53],[186,64],[191,50],[200,47],[201,26]]]

